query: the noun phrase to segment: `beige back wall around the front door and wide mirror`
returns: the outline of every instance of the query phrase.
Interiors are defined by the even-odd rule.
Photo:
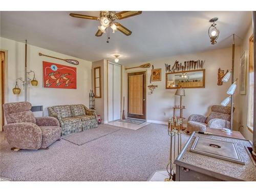
[[[231,82],[230,80],[223,83],[222,86],[217,85],[218,69],[231,69],[231,53],[232,49],[220,49],[214,51],[207,51],[194,54],[177,55],[169,58],[162,58],[150,62],[154,65],[154,69],[162,69],[162,80],[154,81],[152,84],[158,86],[152,95],[147,94],[147,120],[151,122],[166,123],[170,116],[173,116],[172,106],[179,104],[179,97],[175,96],[176,90],[165,89],[165,66],[164,63],[173,65],[175,60],[180,62],[187,60],[205,60],[205,88],[202,89],[185,89],[186,96],[183,97],[182,105],[186,106],[184,110],[184,117],[186,120],[191,114],[209,115],[210,106],[213,104],[220,104],[228,95],[226,94]],[[238,76],[237,66],[239,65],[239,47],[236,47],[235,77]],[[145,62],[146,63],[146,62]],[[139,66],[142,63],[135,63],[132,66]],[[129,66],[130,67],[130,66]],[[147,69],[147,85],[150,84],[151,69]],[[139,69],[142,70],[142,69]],[[138,71],[138,69],[126,70],[125,73],[125,93],[127,95],[127,72]],[[148,89],[147,89],[148,92]],[[235,107],[238,105],[238,92],[234,95]],[[126,105],[125,105],[126,106]],[[127,109],[127,108],[126,108]],[[238,111],[234,112],[234,127],[238,129]],[[186,123],[186,120],[184,123]]]

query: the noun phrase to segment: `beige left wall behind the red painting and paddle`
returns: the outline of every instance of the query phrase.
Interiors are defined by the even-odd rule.
[[[0,49],[6,50],[8,52],[8,61],[6,63],[8,65],[8,100],[6,102],[24,101],[24,90],[21,86],[21,83],[18,82],[20,89],[22,89],[20,95],[14,95],[12,93],[12,88],[15,86],[16,78],[23,77],[24,79],[25,44],[23,42],[17,42],[2,37],[0,40]],[[38,55],[39,52],[59,58],[76,59],[79,61],[79,65],[74,66],[65,61],[49,57],[42,57]],[[76,67],[77,89],[43,88],[42,61],[49,61],[61,65]],[[91,69],[91,61],[74,58],[54,51],[28,45],[28,71],[33,70],[35,72],[36,79],[38,80],[37,87],[28,88],[28,101],[31,102],[32,105],[43,105],[45,116],[48,115],[48,106],[78,103],[89,106],[89,92],[90,89],[92,89]],[[30,77],[33,77],[32,74]]]

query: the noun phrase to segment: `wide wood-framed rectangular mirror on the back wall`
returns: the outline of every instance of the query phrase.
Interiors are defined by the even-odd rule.
[[[205,69],[179,71],[165,74],[165,89],[204,88]]]

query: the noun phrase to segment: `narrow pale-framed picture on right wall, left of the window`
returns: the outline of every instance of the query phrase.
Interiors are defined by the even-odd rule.
[[[240,95],[246,95],[247,51],[240,58]]]

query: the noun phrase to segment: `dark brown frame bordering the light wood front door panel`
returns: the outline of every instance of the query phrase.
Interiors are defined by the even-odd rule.
[[[129,115],[129,76],[133,75],[141,75],[143,74],[143,116],[141,115]],[[146,120],[146,83],[147,83],[147,71],[134,71],[134,72],[127,72],[127,118],[136,118],[136,119],[144,119]]]

